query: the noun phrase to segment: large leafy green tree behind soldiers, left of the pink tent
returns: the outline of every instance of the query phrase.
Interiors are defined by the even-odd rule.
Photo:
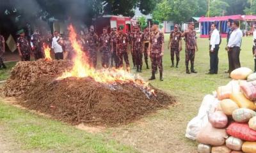
[[[153,18],[163,22],[172,20],[177,24],[188,21],[198,11],[198,1],[163,0],[153,11]]]

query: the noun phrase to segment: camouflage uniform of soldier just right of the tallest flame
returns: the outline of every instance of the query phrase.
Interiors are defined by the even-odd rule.
[[[88,45],[88,54],[90,64],[96,68],[97,66],[97,43],[99,38],[96,33],[88,33],[86,36],[86,43]]]

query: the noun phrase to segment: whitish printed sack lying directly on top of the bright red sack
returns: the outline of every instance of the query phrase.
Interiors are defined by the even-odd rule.
[[[248,108],[239,108],[232,113],[232,117],[236,122],[249,122],[255,116],[256,112]]]

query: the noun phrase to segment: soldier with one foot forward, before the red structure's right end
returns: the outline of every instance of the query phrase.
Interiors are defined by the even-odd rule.
[[[130,64],[128,59],[128,47],[129,47],[129,36],[128,34],[125,34],[124,26],[120,25],[118,28],[118,35],[116,37],[116,55],[119,60],[119,67],[122,68],[124,66],[123,64],[123,58],[126,64],[127,71],[130,71]]]

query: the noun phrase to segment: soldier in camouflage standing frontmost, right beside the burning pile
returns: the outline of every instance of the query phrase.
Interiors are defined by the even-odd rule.
[[[159,22],[154,21],[152,32],[150,33],[150,43],[148,47],[148,55],[150,55],[152,63],[152,76],[148,80],[156,79],[155,73],[157,66],[160,73],[160,81],[163,81],[163,64],[162,57],[164,55],[164,34],[158,29]]]

